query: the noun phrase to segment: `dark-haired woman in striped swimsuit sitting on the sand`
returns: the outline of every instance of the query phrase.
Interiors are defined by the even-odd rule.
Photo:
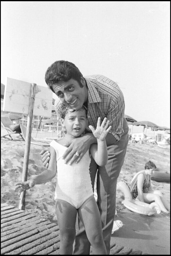
[[[145,164],[145,170],[137,172],[131,181],[131,195],[134,199],[145,203],[156,202],[160,206],[161,211],[169,213],[170,204],[163,198],[160,190],[152,190],[150,175],[156,169],[153,162],[149,161]]]

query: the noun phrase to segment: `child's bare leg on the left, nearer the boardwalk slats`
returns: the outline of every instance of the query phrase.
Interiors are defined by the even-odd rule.
[[[60,229],[60,255],[73,254],[77,210],[70,203],[57,200],[56,216]]]

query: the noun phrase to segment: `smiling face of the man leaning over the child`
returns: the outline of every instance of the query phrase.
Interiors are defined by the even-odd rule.
[[[88,100],[88,90],[85,80],[81,78],[80,83],[83,87],[80,87],[80,84],[75,79],[70,79],[66,82],[60,81],[52,87],[63,104],[72,107],[74,110],[78,110]]]

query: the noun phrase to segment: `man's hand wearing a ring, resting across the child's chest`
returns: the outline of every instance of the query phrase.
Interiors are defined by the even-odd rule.
[[[65,160],[65,164],[69,162],[71,165],[73,162],[76,164],[82,159],[83,155],[87,152],[87,150],[90,148],[92,142],[92,138],[94,141],[94,136],[92,133],[88,133],[80,138],[75,138],[72,140],[70,146],[63,154],[62,159]],[[94,141],[95,143],[95,141]],[[96,140],[97,143],[97,140]],[[75,153],[79,154],[76,155]]]

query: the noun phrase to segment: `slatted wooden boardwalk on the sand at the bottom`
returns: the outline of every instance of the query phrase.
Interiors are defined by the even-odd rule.
[[[59,255],[59,246],[57,224],[6,203],[1,204],[1,255]],[[110,254],[139,255],[142,251],[111,244]]]

